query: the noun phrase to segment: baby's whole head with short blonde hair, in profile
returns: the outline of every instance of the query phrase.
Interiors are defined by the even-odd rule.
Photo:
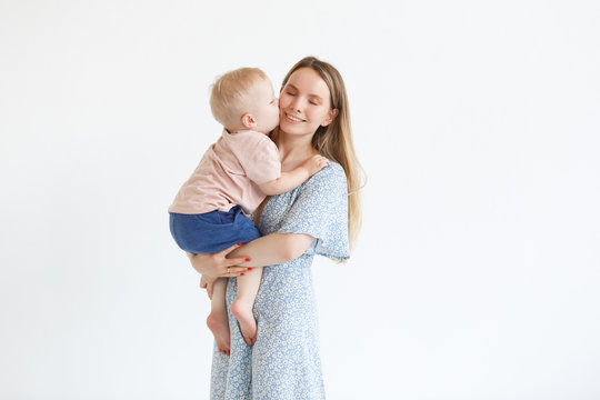
[[[269,133],[279,124],[271,81],[258,68],[240,68],[217,78],[210,94],[214,119],[228,131]]]

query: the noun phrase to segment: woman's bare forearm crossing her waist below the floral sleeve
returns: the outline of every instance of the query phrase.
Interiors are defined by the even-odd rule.
[[[304,233],[271,233],[233,250],[228,258],[248,257],[250,261],[244,262],[244,267],[283,263],[302,256],[313,240]]]

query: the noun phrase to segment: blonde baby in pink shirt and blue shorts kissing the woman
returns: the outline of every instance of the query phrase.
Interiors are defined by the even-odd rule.
[[[169,208],[173,239],[193,254],[219,252],[259,238],[248,217],[266,196],[299,187],[328,163],[326,158],[314,156],[297,169],[281,172],[279,151],[268,137],[279,124],[278,99],[270,80],[258,68],[240,68],[218,78],[210,107],[223,132]],[[242,274],[237,278],[238,297],[231,312],[251,346],[257,340],[252,307],[262,268]],[[226,289],[226,279],[214,282],[207,319],[222,353],[230,350]]]

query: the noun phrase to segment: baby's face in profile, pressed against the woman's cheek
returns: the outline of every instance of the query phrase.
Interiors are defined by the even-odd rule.
[[[256,131],[269,133],[279,124],[279,101],[268,79],[259,79],[250,92],[251,113],[257,119]]]

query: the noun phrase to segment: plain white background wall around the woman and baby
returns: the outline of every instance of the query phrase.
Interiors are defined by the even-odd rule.
[[[213,78],[314,54],[369,176],[313,266],[329,398],[599,399],[599,4],[1,1],[0,398],[208,398],[167,208]]]

